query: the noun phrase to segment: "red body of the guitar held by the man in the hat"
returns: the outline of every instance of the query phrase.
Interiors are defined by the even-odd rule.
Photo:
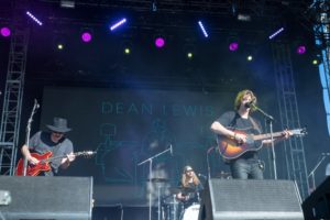
[[[53,155],[52,152],[46,152],[44,154],[31,153],[31,155],[37,158],[40,163],[36,165],[32,165],[28,163],[26,176],[37,176],[42,172],[48,172],[52,169],[50,162],[47,162]],[[20,158],[15,175],[16,176],[24,175],[24,158]]]

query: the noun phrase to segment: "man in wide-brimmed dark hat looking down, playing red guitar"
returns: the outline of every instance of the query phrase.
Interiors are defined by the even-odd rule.
[[[67,168],[70,162],[75,161],[73,142],[65,136],[65,133],[70,131],[67,128],[67,120],[63,118],[54,118],[53,125],[46,125],[50,131],[38,131],[30,139],[30,146],[23,145],[21,152],[28,160],[29,165],[37,165],[40,161],[33,157],[30,151],[38,154],[52,152],[52,157],[59,156],[51,163],[52,169],[50,172],[42,172],[40,175],[54,176],[58,168]]]

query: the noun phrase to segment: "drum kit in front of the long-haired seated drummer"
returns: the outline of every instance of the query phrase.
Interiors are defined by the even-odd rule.
[[[166,178],[152,178],[152,183],[166,183]],[[184,204],[176,199],[176,195],[196,193],[195,188],[189,187],[169,187],[169,196],[162,197],[158,190],[158,220],[198,220],[199,202],[184,208]],[[199,195],[199,193],[197,193]],[[198,201],[199,201],[198,196]]]

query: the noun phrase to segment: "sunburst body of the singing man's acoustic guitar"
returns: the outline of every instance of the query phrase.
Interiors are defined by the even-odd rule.
[[[262,141],[255,141],[253,134],[246,134],[243,131],[235,130],[235,133],[246,135],[246,143],[239,143],[238,141],[228,136],[219,136],[218,145],[219,152],[226,160],[234,160],[246,152],[255,152],[262,147]]]

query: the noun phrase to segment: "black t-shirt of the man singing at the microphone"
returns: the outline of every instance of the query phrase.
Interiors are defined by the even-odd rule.
[[[246,134],[260,134],[262,132],[262,127],[260,122],[249,116],[248,119],[243,119],[238,112],[235,111],[228,111],[224,112],[220,118],[217,120],[223,127],[229,130],[239,130],[243,131]],[[220,134],[219,134],[220,135]],[[239,158],[255,158],[256,152],[249,151],[242,154]]]

